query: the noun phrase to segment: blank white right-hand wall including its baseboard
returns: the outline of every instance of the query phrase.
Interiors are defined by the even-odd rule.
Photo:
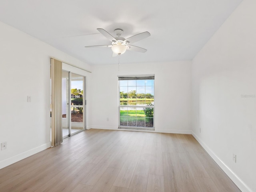
[[[194,136],[243,192],[256,191],[255,10],[244,0],[192,61]]]

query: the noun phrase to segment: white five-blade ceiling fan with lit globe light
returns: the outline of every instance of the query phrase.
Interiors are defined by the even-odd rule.
[[[142,40],[146,37],[150,36],[149,32],[143,32],[140,34],[136,34],[134,36],[131,36],[127,39],[121,37],[123,30],[122,29],[116,29],[114,32],[116,33],[116,37],[113,37],[111,34],[106,32],[106,30],[102,28],[97,29],[102,35],[104,35],[106,38],[108,38],[112,44],[110,45],[94,45],[94,46],[85,46],[85,48],[91,48],[91,47],[111,47],[113,54],[112,56],[115,57],[117,55],[123,54],[126,52],[126,50],[130,51],[136,51],[136,52],[146,52],[147,50],[141,47],[137,47],[134,45],[130,45],[130,43],[137,42],[139,40]]]

